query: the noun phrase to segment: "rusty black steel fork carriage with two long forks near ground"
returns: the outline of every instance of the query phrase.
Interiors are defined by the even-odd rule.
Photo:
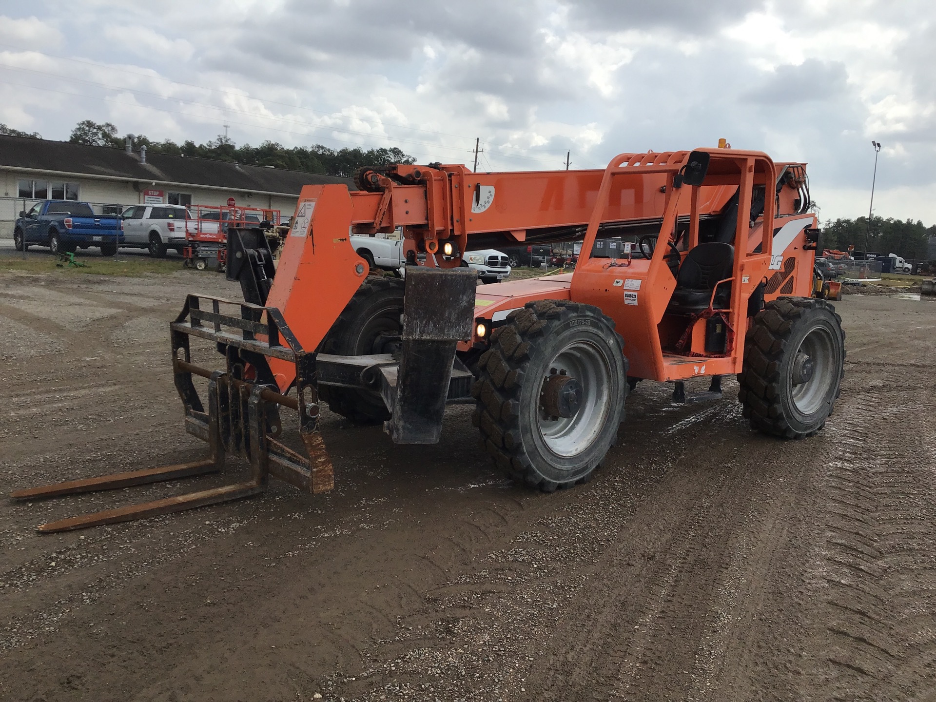
[[[211,310],[202,309],[204,301],[211,304]],[[240,307],[240,316],[221,314],[221,305]],[[326,492],[333,487],[331,462],[317,427],[315,355],[302,349],[279,310],[245,302],[189,295],[182,314],[169,327],[172,337],[172,370],[185,409],[185,431],[208,442],[209,458],[17,490],[10,493],[10,497],[37,500],[216,473],[224,466],[228,453],[250,462],[250,479],[211,490],[51,521],[38,527],[39,532],[66,532],[239,500],[266,490],[270,475],[307,492]],[[190,336],[215,342],[218,350],[227,358],[227,373],[211,372],[193,364],[189,350]],[[296,364],[296,397],[287,397],[279,392],[267,358],[280,358]],[[251,380],[244,379],[245,364],[249,364],[255,375]],[[205,377],[209,381],[207,412],[198,397],[192,375]],[[281,406],[298,413],[300,435],[307,456],[277,441],[282,431],[279,417]]]

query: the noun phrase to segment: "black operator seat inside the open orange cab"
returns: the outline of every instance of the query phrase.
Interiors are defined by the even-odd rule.
[[[676,289],[667,312],[695,314],[709,307],[712,288],[730,278],[735,265],[735,247],[730,243],[709,241],[690,250],[676,276]],[[731,300],[731,283],[723,283],[715,295],[715,309],[724,309]]]

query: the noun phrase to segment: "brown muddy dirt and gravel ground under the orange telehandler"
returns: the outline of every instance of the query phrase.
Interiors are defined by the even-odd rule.
[[[7,490],[191,461],[168,372],[183,292],[3,272]],[[37,524],[233,481],[0,503],[9,700],[936,699],[936,302],[838,303],[819,436],[640,384],[591,483],[505,482],[470,408],[437,446],[326,413],[336,490],[61,535]],[[626,336],[626,331],[624,331]],[[6,490],[5,490],[6,491]]]

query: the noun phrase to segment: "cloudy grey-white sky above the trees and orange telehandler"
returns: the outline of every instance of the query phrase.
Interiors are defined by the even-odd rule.
[[[0,0],[0,123],[600,168],[717,144],[810,163],[825,220],[936,224],[932,0]]]

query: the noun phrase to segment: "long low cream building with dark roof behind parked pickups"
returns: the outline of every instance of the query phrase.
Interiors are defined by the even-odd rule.
[[[38,200],[90,202],[102,213],[130,205],[227,205],[278,210],[292,216],[303,185],[350,184],[299,170],[241,166],[67,141],[0,136],[0,238]]]

